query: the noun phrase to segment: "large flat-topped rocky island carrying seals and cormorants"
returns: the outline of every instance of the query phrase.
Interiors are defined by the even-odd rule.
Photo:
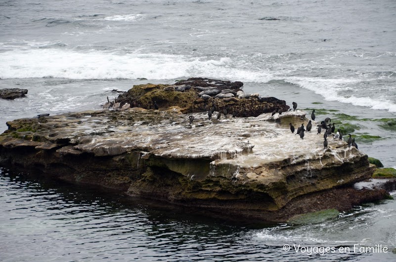
[[[289,123],[308,123],[305,112],[245,94],[242,85],[207,78],[137,85],[114,101],[131,105],[123,111],[9,121],[0,165],[271,222],[389,196],[352,187],[375,170],[367,155],[338,139],[324,148],[315,131],[301,139]]]

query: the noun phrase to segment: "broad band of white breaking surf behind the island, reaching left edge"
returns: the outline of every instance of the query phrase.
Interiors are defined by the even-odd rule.
[[[59,49],[19,49],[0,56],[1,78],[60,77],[73,79],[175,79],[206,76],[239,81],[271,79],[265,72],[236,68],[230,58],[208,60],[183,55],[123,54]]]

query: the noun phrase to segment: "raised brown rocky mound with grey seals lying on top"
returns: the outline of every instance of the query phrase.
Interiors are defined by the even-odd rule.
[[[117,101],[129,103],[131,107],[154,109],[154,103],[161,110],[179,107],[182,113],[205,112],[212,108],[227,109],[238,117],[258,116],[275,109],[289,110],[284,100],[274,97],[250,96],[243,93],[243,83],[221,81],[209,78],[188,78],[174,85],[142,84],[133,86],[121,94]],[[244,95],[237,97],[237,92]],[[235,112],[235,113],[234,113]]]

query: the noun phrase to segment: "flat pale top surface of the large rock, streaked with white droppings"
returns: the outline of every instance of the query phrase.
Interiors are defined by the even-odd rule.
[[[194,115],[192,124],[189,115]],[[32,137],[31,140],[40,141],[34,142],[40,144],[39,148],[69,146],[59,149],[60,153],[90,152],[103,156],[141,150],[167,158],[204,158],[253,168],[284,160],[290,164],[320,160],[325,155],[340,162],[364,155],[332,136],[328,137],[329,148],[324,149],[323,134],[316,134],[314,124],[304,139],[292,134],[288,123],[294,121],[298,127],[304,116],[305,112],[295,111],[247,118],[222,115],[220,120],[209,120],[203,112],[177,114],[134,108],[127,112],[103,110],[17,119],[7,124],[14,130],[24,130],[21,125],[27,130],[26,125],[30,125],[30,131],[18,133],[25,140]],[[4,139],[4,135],[3,139],[0,137],[1,144],[8,147],[15,144],[15,139]]]

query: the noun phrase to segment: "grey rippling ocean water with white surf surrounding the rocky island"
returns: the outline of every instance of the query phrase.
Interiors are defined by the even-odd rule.
[[[325,109],[317,119],[380,137],[359,150],[395,167],[396,131],[379,120],[396,118],[395,21],[394,0],[2,0],[0,88],[29,93],[0,100],[0,131],[15,118],[100,109],[117,96],[113,89],[201,76],[242,81],[245,92],[297,102],[308,115]],[[3,169],[0,178],[0,260],[42,260],[45,250],[48,260],[65,261],[395,259],[280,250],[293,241],[395,248],[393,201],[320,225],[261,227],[173,215],[138,200],[124,205],[94,190],[84,200],[85,189],[46,187]],[[29,252],[16,249],[27,243]]]

